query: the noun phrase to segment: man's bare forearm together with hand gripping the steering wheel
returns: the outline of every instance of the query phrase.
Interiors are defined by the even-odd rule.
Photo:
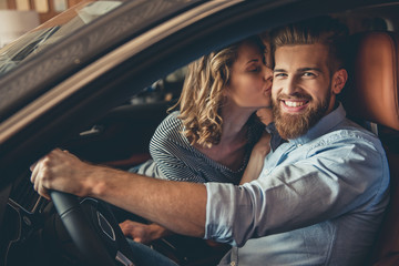
[[[162,181],[82,162],[59,149],[32,165],[34,190],[47,198],[49,190],[92,196],[137,214],[178,234],[203,237],[206,187]]]

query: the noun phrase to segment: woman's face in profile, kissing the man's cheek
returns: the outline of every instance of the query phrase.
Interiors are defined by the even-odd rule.
[[[269,53],[266,53],[266,59],[264,55],[264,51],[253,42],[245,41],[238,47],[226,90],[229,103],[250,111],[270,106],[273,70],[265,64],[270,60]]]

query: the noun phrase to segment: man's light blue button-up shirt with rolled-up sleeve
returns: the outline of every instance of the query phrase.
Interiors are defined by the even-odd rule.
[[[345,116],[339,105],[283,143],[250,183],[205,184],[205,238],[234,246],[221,265],[362,265],[389,170],[379,140]]]

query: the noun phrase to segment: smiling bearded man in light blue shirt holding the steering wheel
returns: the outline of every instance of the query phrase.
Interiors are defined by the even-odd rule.
[[[147,178],[90,165],[60,150],[32,182],[93,196],[176,233],[233,246],[221,265],[361,265],[388,201],[378,139],[345,117],[347,81],[334,21],[310,20],[273,34],[275,123],[286,140],[259,177],[242,186]]]

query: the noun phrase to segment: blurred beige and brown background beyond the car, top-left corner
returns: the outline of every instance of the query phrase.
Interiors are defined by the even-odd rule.
[[[85,0],[0,0],[0,48]]]

